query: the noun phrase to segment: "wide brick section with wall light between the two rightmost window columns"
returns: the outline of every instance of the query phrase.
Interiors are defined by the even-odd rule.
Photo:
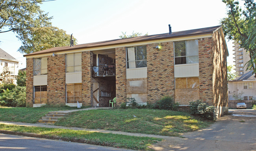
[[[162,49],[147,45],[148,103],[155,103],[163,96],[174,99],[174,56],[173,42],[163,42]]]

